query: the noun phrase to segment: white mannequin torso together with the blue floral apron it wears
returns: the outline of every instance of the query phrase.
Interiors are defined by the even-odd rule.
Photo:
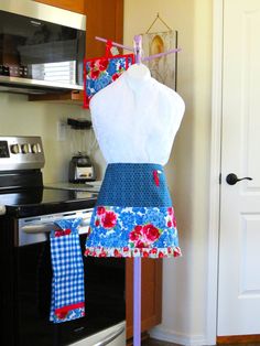
[[[184,113],[182,98],[132,65],[90,100],[108,163],[86,256],[176,257],[176,221],[163,172]]]

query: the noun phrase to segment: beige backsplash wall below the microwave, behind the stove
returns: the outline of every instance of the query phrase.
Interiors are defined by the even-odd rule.
[[[45,183],[67,181],[68,161],[77,149],[71,144],[71,127],[66,129],[66,140],[57,140],[57,122],[86,116],[88,111],[83,111],[80,106],[32,102],[24,95],[0,93],[0,136],[42,137]]]

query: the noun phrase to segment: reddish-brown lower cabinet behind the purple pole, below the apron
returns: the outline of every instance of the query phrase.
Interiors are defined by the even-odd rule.
[[[162,259],[142,259],[141,331],[162,321]],[[133,259],[127,259],[127,338],[133,336]]]

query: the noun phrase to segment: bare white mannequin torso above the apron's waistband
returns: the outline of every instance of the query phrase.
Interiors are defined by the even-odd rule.
[[[107,163],[159,163],[170,158],[184,113],[174,90],[132,65],[90,100],[94,130]]]

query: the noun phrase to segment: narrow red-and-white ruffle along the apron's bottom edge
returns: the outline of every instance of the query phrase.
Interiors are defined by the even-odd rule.
[[[141,257],[141,258],[171,258],[182,256],[180,247],[174,248],[106,248],[87,247],[85,256],[91,257]]]

